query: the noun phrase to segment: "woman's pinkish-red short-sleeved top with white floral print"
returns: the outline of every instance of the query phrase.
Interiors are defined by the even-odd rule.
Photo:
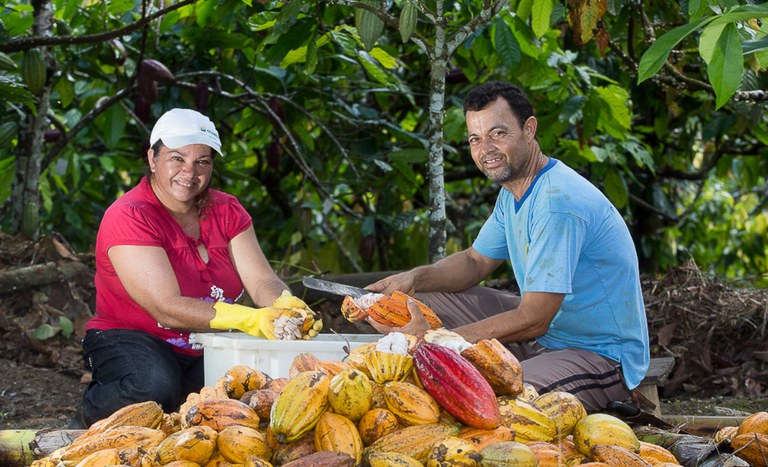
[[[133,301],[115,273],[107,251],[115,245],[159,246],[170,260],[181,295],[211,302],[234,302],[243,284],[229,256],[229,241],[251,226],[251,216],[234,196],[209,190],[195,241],[181,229],[152,191],[147,178],[104,213],[96,236],[96,316],[86,329],[133,329],[168,342],[186,355],[202,355],[189,333],[161,326]],[[203,262],[197,245],[208,250]]]

